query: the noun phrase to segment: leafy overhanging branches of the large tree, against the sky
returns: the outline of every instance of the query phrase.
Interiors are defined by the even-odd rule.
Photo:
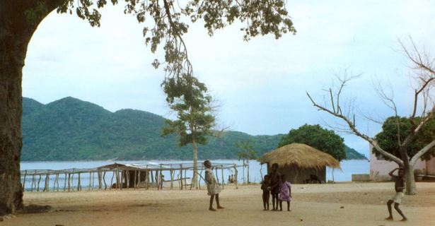
[[[49,10],[47,1],[57,4],[57,13],[74,11],[79,18],[88,20],[91,26],[100,26],[100,8],[108,4],[107,0],[39,0],[35,7],[25,11],[29,23],[35,23],[37,18],[43,17]],[[112,4],[120,3],[111,0]],[[283,0],[125,0],[124,13],[131,14],[144,25],[143,35],[151,52],[156,52],[163,44],[164,60],[155,59],[152,65],[156,68],[163,65],[166,78],[175,83],[166,82],[165,85],[179,85],[183,76],[192,76],[192,64],[187,56],[187,47],[183,35],[188,32],[189,24],[198,20],[204,21],[204,28],[211,36],[216,30],[225,28],[235,21],[240,21],[244,32],[243,39],[250,40],[258,35],[273,34],[275,38],[288,32],[295,34],[293,22],[286,10]],[[177,88],[175,88],[177,89]]]

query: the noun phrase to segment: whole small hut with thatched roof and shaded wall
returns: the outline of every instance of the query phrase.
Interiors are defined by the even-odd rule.
[[[258,159],[267,164],[267,172],[274,163],[279,165],[279,173],[286,174],[286,180],[293,184],[304,184],[315,175],[320,182],[326,182],[326,167],[340,168],[340,162],[303,143],[285,145]]]

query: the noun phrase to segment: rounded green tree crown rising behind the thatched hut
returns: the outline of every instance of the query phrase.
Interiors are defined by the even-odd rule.
[[[291,129],[279,142],[279,147],[291,143],[305,143],[342,161],[346,159],[343,141],[343,138],[332,130],[323,129],[320,125],[304,124],[298,129]]]

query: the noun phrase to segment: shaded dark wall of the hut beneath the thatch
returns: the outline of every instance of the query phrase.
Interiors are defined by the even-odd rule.
[[[269,173],[270,169],[267,169],[267,173]],[[316,175],[321,182],[326,182],[326,168],[322,169],[316,168],[301,168],[296,165],[279,167],[278,172],[280,174],[285,174],[286,181],[291,184],[306,184],[306,180],[310,179],[310,175]]]

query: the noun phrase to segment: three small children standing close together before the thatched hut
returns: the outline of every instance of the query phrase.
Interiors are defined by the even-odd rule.
[[[287,203],[287,211],[290,211],[291,184],[286,181],[285,174],[279,174],[278,164],[272,164],[272,171],[265,175],[261,189],[263,190],[263,208],[269,210],[269,197],[272,194],[272,211],[282,211],[282,202]]]

